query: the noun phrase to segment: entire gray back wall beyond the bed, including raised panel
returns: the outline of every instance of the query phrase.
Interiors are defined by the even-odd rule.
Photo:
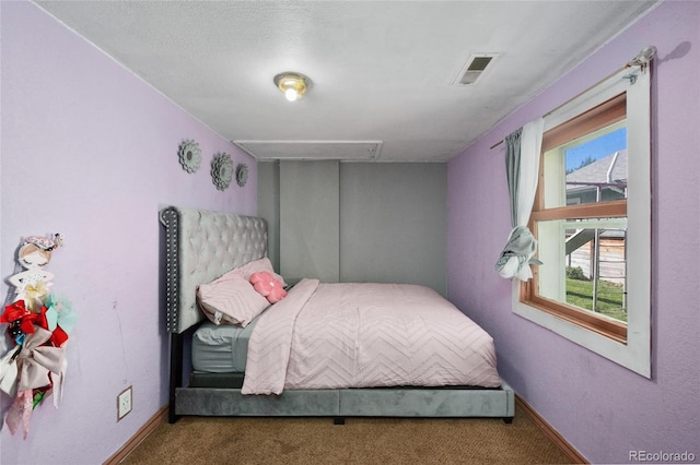
[[[422,284],[446,295],[446,168],[258,163],[258,214],[269,224],[272,263],[292,282]]]

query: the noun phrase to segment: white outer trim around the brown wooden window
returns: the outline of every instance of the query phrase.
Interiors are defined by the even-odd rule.
[[[651,378],[651,70],[621,70],[545,118],[545,131],[627,91],[628,153],[628,322],[627,344],[586,330],[520,301],[520,282],[513,282],[513,312]],[[634,78],[630,78],[634,76]],[[633,84],[632,84],[633,82]]]

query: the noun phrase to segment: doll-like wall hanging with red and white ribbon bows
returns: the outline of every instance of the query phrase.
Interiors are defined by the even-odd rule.
[[[23,240],[18,261],[24,271],[10,276],[14,301],[0,317],[14,344],[0,359],[0,390],[14,396],[4,422],[12,434],[22,427],[24,439],[32,412],[44,398],[52,394],[58,408],[66,378],[66,344],[78,319],[70,303],[51,291],[54,274],[44,269],[62,245],[58,234]]]

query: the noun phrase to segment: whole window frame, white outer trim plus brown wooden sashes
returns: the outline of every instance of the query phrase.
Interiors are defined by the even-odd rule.
[[[563,127],[568,121],[593,111],[605,110],[605,103],[615,96],[625,94],[628,134],[628,199],[626,201],[605,202],[608,216],[628,218],[628,295],[627,324],[610,320],[600,324],[602,319],[578,311],[570,306],[555,305],[544,298],[526,299],[530,282],[515,279],[512,288],[513,312],[530,320],[557,334],[579,344],[607,359],[610,359],[643,377],[651,378],[651,68],[639,67],[623,69],[596,84],[580,96],[573,98],[545,117],[544,131]],[[609,107],[608,107],[609,108]],[[598,128],[599,129],[599,128]],[[593,132],[595,128],[588,132]],[[542,143],[540,154],[540,176],[544,153],[556,145]],[[629,163],[629,154],[634,154],[634,163]],[[539,189],[538,189],[539,192]],[[536,198],[535,202],[542,202]],[[568,205],[561,208],[548,208],[533,212],[530,227],[537,237],[537,220],[559,219],[567,210],[567,216],[591,217],[593,207]],[[595,205],[599,210],[600,205]],[[594,208],[594,210],[595,210]],[[580,215],[580,216],[579,216]],[[587,215],[587,216],[586,216]],[[596,213],[594,217],[600,217]],[[540,242],[540,248],[542,247]],[[537,267],[533,267],[537,273]],[[562,311],[563,310],[563,311]],[[588,321],[590,318],[594,322]],[[605,319],[603,319],[605,320]]]

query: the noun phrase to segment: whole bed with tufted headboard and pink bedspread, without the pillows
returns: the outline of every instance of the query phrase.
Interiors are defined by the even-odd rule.
[[[488,334],[481,334],[472,326],[466,330],[457,327],[464,321],[471,324],[474,322],[432,289],[415,285],[330,284],[303,279],[287,288],[288,294],[282,300],[266,306],[267,308],[257,315],[250,315],[250,320],[245,322],[245,327],[214,324],[220,322],[222,315],[211,312],[207,315],[207,312],[202,311],[208,307],[202,305],[200,308],[202,302],[201,294],[198,301],[198,289],[214,285],[238,270],[267,260],[265,219],[168,206],[161,210],[160,220],[164,226],[162,287],[166,327],[171,339],[170,422],[175,422],[183,415],[317,416],[334,418],[339,424],[348,417],[366,416],[493,417],[502,418],[506,422],[512,421],[514,393],[498,378],[494,355],[479,349],[475,350],[471,357],[477,360],[493,358],[486,360],[487,365],[493,366],[492,370],[483,365],[477,370],[462,370],[462,373],[452,374],[442,368],[430,373],[431,370],[425,368],[431,363],[430,357],[425,357],[425,354],[432,354],[433,350],[425,347],[432,347],[430,344],[433,344],[434,337],[422,336],[421,327],[432,320],[441,320],[444,314],[440,318],[425,318],[420,314],[407,317],[411,314],[410,311],[415,311],[410,307],[420,307],[423,298],[433,299],[438,296],[442,300],[441,305],[446,306],[443,310],[447,312],[448,318],[456,318],[450,311],[459,313],[462,320],[456,321],[455,326],[458,334],[475,331],[477,339],[486,341],[487,345],[490,341]],[[273,271],[270,272],[275,274]],[[279,275],[275,276],[283,279]],[[394,337],[394,341],[390,347],[380,350],[380,356],[372,351],[364,353],[362,357],[374,363],[372,370],[365,370],[369,373],[366,378],[364,374],[360,378],[358,373],[362,370],[355,369],[359,362],[354,358],[359,356],[348,356],[349,358],[343,359],[343,354],[354,350],[355,341],[352,337],[345,343],[345,336],[338,336],[338,333],[320,342],[308,337],[308,334],[315,334],[319,326],[334,324],[323,320],[330,313],[327,309],[334,307],[328,302],[343,300],[350,301],[351,305],[350,310],[347,307],[335,310],[340,312],[341,321],[355,325],[353,334],[368,334],[376,341],[380,337],[377,333],[383,331],[375,330],[378,323],[370,319],[374,313],[362,310],[360,302],[365,301],[370,302],[368,306],[374,306],[374,302],[382,299],[399,301],[408,291],[418,294],[400,302],[397,311],[405,313],[387,317],[390,326],[404,329],[404,335],[398,338],[389,336]],[[316,296],[330,296],[331,300]],[[316,313],[313,313],[311,308],[314,308]],[[308,314],[316,317],[307,317]],[[351,314],[354,314],[354,320],[350,318]],[[305,332],[302,331],[304,321]],[[228,331],[233,333],[226,333]],[[301,346],[303,344],[300,341],[307,343],[306,351],[294,355],[296,349],[290,350],[285,344]],[[471,354],[470,347],[457,347],[454,344],[446,344],[450,346],[448,350]],[[185,356],[186,347],[191,353],[189,357]],[[340,351],[328,357],[329,350],[332,349]],[[394,351],[393,356],[398,357],[404,357],[408,351],[423,357],[412,361],[412,369],[399,373],[400,377],[408,375],[406,383],[401,382],[404,378],[394,378],[396,373],[376,373],[377,367],[386,368],[392,363],[380,360],[380,357],[389,351]],[[354,353],[360,354],[357,350]],[[276,354],[284,354],[283,357],[289,358],[280,359]],[[453,355],[444,357],[448,359]],[[320,374],[316,375],[316,368],[327,365],[323,357],[334,360],[330,377],[329,370],[320,370]],[[354,371],[338,377],[338,372],[343,370],[352,371],[346,370],[348,367]],[[468,371],[483,372],[475,374]],[[185,374],[187,383],[184,382]],[[434,375],[439,377],[438,381]],[[441,375],[443,378],[440,378]],[[347,384],[348,379],[352,380],[352,385]],[[472,380],[475,382],[471,382]]]

